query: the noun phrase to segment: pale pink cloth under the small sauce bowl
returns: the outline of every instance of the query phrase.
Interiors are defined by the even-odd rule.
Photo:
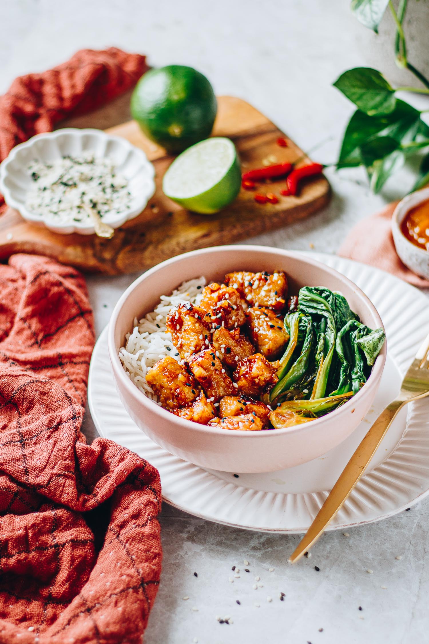
[[[342,243],[338,255],[370,264],[405,279],[413,286],[429,288],[429,281],[415,275],[396,253],[390,222],[396,204],[356,224]]]

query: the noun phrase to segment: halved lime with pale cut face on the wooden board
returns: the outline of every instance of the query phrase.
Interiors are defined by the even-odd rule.
[[[213,137],[188,147],[164,175],[162,189],[176,204],[194,213],[212,214],[240,191],[241,168],[229,138]]]

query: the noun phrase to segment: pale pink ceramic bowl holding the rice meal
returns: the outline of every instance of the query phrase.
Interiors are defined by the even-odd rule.
[[[221,246],[188,252],[163,261],[143,273],[123,293],[109,324],[109,356],[120,398],[132,420],[165,450],[203,468],[230,472],[268,472],[291,468],[332,450],[360,424],[374,400],[385,365],[383,346],[368,382],[351,401],[312,422],[284,430],[231,431],[185,421],[147,398],[122,368],[118,351],[134,317],[154,309],[161,294],[181,282],[204,275],[222,281],[233,270],[284,270],[291,293],[304,285],[338,290],[363,323],[383,324],[374,306],[358,287],[336,270],[294,252],[263,246]]]

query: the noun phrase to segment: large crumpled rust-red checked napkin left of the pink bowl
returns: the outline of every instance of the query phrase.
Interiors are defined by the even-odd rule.
[[[140,644],[156,596],[158,471],[80,431],[93,344],[77,270],[0,265],[1,644]]]

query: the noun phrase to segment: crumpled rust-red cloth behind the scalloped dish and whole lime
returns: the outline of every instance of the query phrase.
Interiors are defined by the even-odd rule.
[[[0,162],[33,135],[118,97],[147,69],[145,56],[110,47],[81,50],[52,70],[15,79],[0,96]],[[0,213],[3,207],[0,195]]]

